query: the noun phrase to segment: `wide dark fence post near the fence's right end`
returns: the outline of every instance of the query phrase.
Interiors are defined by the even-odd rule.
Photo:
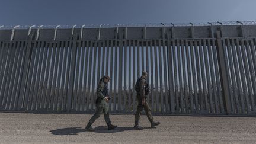
[[[229,89],[228,89],[228,71],[225,65],[225,55],[224,55],[224,47],[222,47],[222,40],[220,31],[216,31],[217,34],[217,58],[219,59],[219,73],[220,73],[220,83],[222,86],[222,95],[223,101],[225,101],[225,109],[227,114],[231,114],[231,104],[229,98]]]

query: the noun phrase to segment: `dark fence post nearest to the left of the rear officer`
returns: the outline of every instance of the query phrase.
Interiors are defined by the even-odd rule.
[[[73,94],[73,85],[75,78],[75,62],[76,62],[76,41],[78,33],[75,33],[72,41],[72,50],[71,50],[71,68],[70,68],[70,78],[69,78],[69,87],[68,87],[68,100],[66,101],[67,106],[66,110],[69,112],[72,106],[72,94]]]

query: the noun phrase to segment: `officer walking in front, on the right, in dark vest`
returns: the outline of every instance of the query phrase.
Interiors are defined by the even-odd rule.
[[[137,80],[135,85],[135,90],[137,91],[137,101],[138,101],[137,111],[135,113],[135,126],[134,126],[134,129],[136,130],[143,129],[143,127],[139,126],[139,119],[143,109],[145,110],[146,116],[148,117],[148,120],[151,123],[151,127],[155,127],[160,124],[159,122],[153,121],[151,108],[149,107],[146,101],[146,95],[148,95],[148,91],[149,91],[148,84],[146,83],[147,76],[148,76],[148,73],[143,71],[142,76]]]

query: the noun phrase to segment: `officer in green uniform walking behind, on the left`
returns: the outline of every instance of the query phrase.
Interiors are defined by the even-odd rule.
[[[104,119],[107,123],[108,130],[115,129],[117,126],[114,126],[111,124],[110,118],[109,118],[109,111],[108,111],[108,100],[110,100],[110,97],[108,97],[108,88],[107,83],[110,81],[109,76],[103,76],[103,78],[100,79],[100,82],[97,86],[97,100],[96,100],[96,111],[94,115],[89,120],[87,126],[85,127],[88,131],[94,131],[92,128],[92,124],[98,117],[100,117],[101,113],[104,113]]]

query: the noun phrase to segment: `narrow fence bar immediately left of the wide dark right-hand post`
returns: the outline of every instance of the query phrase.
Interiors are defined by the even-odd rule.
[[[219,103],[217,100],[217,92],[216,92],[216,82],[215,82],[215,73],[214,73],[214,69],[213,69],[213,54],[212,54],[212,50],[214,49],[212,44],[211,44],[211,40],[208,39],[207,40],[207,47],[208,47],[208,57],[209,57],[209,63],[210,63],[210,73],[211,73],[211,82],[210,85],[212,85],[212,87],[210,87],[209,89],[209,93],[212,94],[213,91],[213,95],[214,95],[214,99],[215,99],[215,113],[220,113],[219,112]]]

